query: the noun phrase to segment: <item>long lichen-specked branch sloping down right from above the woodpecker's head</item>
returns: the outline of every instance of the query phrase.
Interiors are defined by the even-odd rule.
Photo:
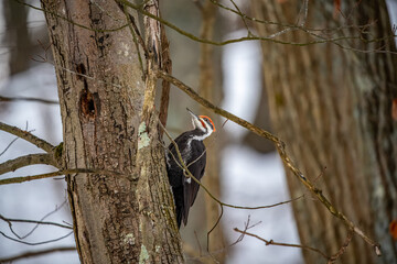
[[[229,113],[229,112],[223,110],[222,108],[218,108],[218,107],[214,106],[212,102],[210,102],[210,101],[205,100],[204,98],[200,97],[197,95],[197,92],[195,92],[192,88],[190,88],[189,86],[186,86],[185,84],[183,84],[179,79],[174,78],[173,76],[171,76],[171,75],[169,75],[169,74],[167,74],[164,72],[160,72],[160,70],[157,73],[157,75],[158,75],[159,78],[163,78],[163,79],[169,80],[171,84],[173,84],[179,89],[184,91],[187,96],[190,96],[193,100],[195,100],[200,105],[211,109],[213,112],[215,112],[217,114],[221,114],[226,119],[232,120],[233,122],[246,128],[247,130],[256,133],[259,136],[262,136],[265,139],[268,139],[268,140],[272,141],[275,143],[277,150],[278,150],[278,153],[279,153],[282,162],[293,173],[293,175],[297,176],[297,178],[318,198],[318,200],[320,200],[323,204],[323,206],[326,207],[326,209],[334,217],[342,220],[342,222],[345,226],[347,226],[348,229],[354,230],[355,233],[357,233],[365,242],[367,242],[369,245],[372,245],[374,248],[374,251],[375,251],[375,253],[377,255],[380,255],[380,245],[377,242],[369,239],[358,227],[356,227],[350,219],[347,219],[347,217],[345,215],[343,215],[341,211],[339,211],[331,204],[331,201],[322,194],[322,190],[316,188],[303,175],[303,173],[292,163],[292,161],[290,160],[290,157],[288,156],[288,154],[286,152],[286,144],[280,139],[278,139],[277,136],[275,136],[270,132],[265,131],[265,130],[249,123],[248,121],[246,121],[244,119],[240,119],[240,118],[234,116],[233,113]],[[196,180],[196,179],[194,178],[194,180]],[[198,182],[198,180],[196,180],[196,182]]]

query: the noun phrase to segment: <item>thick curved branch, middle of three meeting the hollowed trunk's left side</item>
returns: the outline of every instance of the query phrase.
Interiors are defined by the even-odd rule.
[[[9,172],[14,172],[18,168],[35,165],[35,164],[45,164],[57,167],[57,164],[52,154],[30,154],[25,156],[20,156],[14,160],[7,161],[0,164],[0,175]]]

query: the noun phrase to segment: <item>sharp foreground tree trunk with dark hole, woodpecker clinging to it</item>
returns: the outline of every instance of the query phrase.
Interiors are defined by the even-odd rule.
[[[117,2],[42,6],[58,82],[64,166],[94,170],[66,177],[82,263],[182,263],[150,73],[159,43],[147,42],[144,76],[132,26],[122,26],[128,20]],[[150,23],[148,37],[159,33]]]

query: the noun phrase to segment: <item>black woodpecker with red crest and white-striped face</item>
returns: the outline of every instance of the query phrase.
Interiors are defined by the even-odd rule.
[[[189,172],[191,172],[197,180],[201,180],[206,163],[203,140],[216,130],[213,121],[208,117],[197,117],[191,110],[187,109],[187,111],[192,116],[194,129],[182,133],[174,142]],[[189,209],[194,204],[200,185],[194,179],[184,175],[184,169],[182,168],[178,152],[172,142],[169,145],[165,160],[167,173],[175,201],[178,228],[181,228],[182,221],[184,226],[187,223]]]

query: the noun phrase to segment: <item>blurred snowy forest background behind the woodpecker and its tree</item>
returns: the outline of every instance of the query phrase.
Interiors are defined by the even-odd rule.
[[[40,7],[37,0],[26,2]],[[363,34],[364,38],[390,35],[393,19],[397,13],[396,1],[391,0],[387,2],[388,13],[384,1],[342,1],[341,6],[337,6],[340,1],[316,1],[310,2],[308,8],[304,6],[305,1],[221,2],[228,9],[265,21],[301,25],[303,22],[300,20],[305,20],[302,25],[309,29],[345,26],[340,31],[318,32],[331,38],[346,34],[350,36],[357,32]],[[255,21],[242,19],[212,1],[165,0],[160,4],[164,20],[185,32],[217,42],[244,37],[247,34],[268,36],[285,29],[280,24],[257,24]],[[365,11],[375,6],[377,8],[373,11]],[[335,7],[340,7],[345,13],[339,14]],[[62,142],[62,123],[44,15],[42,11],[13,0],[1,1],[0,8],[0,121],[32,131],[57,145]],[[367,18],[360,16],[360,12]],[[391,20],[388,20],[388,14]],[[362,29],[358,24],[368,26]],[[377,24],[382,24],[383,32],[379,32]],[[383,40],[382,44],[365,44],[360,40],[352,40],[300,47],[271,41],[246,41],[211,46],[165,29],[170,41],[172,75],[196,88],[215,105],[259,128],[273,131],[285,140],[287,150],[291,150],[291,156],[305,175],[318,180],[316,184],[336,207],[347,217],[352,217],[386,252],[383,258],[376,260],[371,246],[355,235],[341,263],[396,263],[396,240],[388,235],[389,223],[397,219],[396,120],[391,117],[385,118],[385,123],[389,123],[386,132],[380,125],[376,127],[384,133],[378,135],[380,139],[389,139],[379,143],[384,144],[380,148],[387,150],[363,143],[367,136],[373,136],[368,135],[372,133],[368,128],[375,127],[367,124],[369,121],[362,120],[366,119],[366,110],[363,110],[366,102],[361,101],[367,101],[371,92],[375,98],[377,91],[372,90],[379,89],[385,96],[377,99],[376,103],[385,106],[385,109],[378,114],[389,114],[391,100],[385,102],[386,105],[382,101],[387,101],[387,97],[397,98],[396,54],[393,53],[396,47],[393,38]],[[371,34],[365,34],[364,30],[368,30]],[[290,30],[276,40],[309,43],[312,41],[310,37],[314,36]],[[346,46],[351,48],[345,48]],[[380,48],[391,52],[377,53]],[[387,58],[378,59],[379,56]],[[364,72],[365,77],[360,77]],[[384,72],[386,74],[383,74]],[[379,87],[376,84],[379,84]],[[354,87],[353,91],[348,87]],[[360,89],[356,87],[365,90],[365,96],[364,91],[357,91]],[[204,185],[221,200],[255,207],[304,195],[303,199],[294,201],[293,205],[270,209],[226,208],[221,223],[210,234],[210,249],[215,257],[222,263],[236,264],[299,264],[319,263],[319,260],[324,262],[316,253],[286,246],[266,246],[264,242],[247,235],[230,246],[240,238],[240,233],[233,229],[244,230],[247,221],[254,226],[249,232],[267,240],[299,244],[300,237],[303,244],[319,248],[330,255],[339,251],[348,237],[348,230],[314,201],[290,173],[287,173],[287,184],[282,162],[270,141],[216,117],[176,88],[171,88],[167,125],[173,136],[191,129],[186,107],[215,121],[217,132],[205,142],[208,148],[208,165]],[[270,125],[270,114],[275,130]],[[377,119],[375,113],[371,118]],[[0,163],[37,152],[23,140],[14,140],[15,136],[0,131]],[[168,143],[165,140],[165,144]],[[367,156],[371,156],[371,161]],[[367,168],[363,165],[375,166],[373,163],[380,164],[380,168]],[[35,165],[1,177],[51,170],[51,167]],[[382,176],[368,179],[372,175],[379,174]],[[363,191],[353,190],[354,186]],[[65,189],[66,185],[61,177],[0,186],[0,215],[12,219],[71,223]],[[374,209],[376,207],[383,209]],[[201,190],[191,210],[189,224],[181,230],[187,263],[213,262],[206,252],[207,232],[214,227],[218,213],[218,206]],[[297,216],[299,230],[293,216]],[[18,234],[25,235],[34,224],[13,223],[12,227]],[[7,221],[0,222],[0,231],[1,234],[13,237]],[[77,253],[72,250],[74,238],[69,232],[67,229],[40,226],[23,241],[36,243],[66,238],[37,245],[22,244],[2,235],[0,258],[28,251],[64,249],[64,252],[22,258],[17,263],[78,263]]]

